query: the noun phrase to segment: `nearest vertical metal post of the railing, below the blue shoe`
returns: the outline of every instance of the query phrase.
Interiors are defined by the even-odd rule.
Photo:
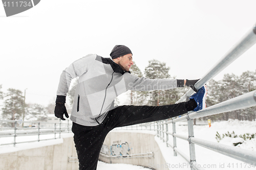
[[[190,138],[194,137],[193,119],[187,119],[188,128],[188,143],[189,143],[189,155],[190,155],[190,167],[193,170],[192,164],[196,162],[196,150],[195,144],[190,142]]]

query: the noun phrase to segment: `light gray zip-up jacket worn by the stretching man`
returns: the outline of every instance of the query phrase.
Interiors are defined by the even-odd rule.
[[[71,80],[79,77],[70,119],[83,126],[97,126],[115,98],[127,90],[150,91],[177,88],[176,79],[139,78],[122,68],[110,58],[96,54],[76,60],[63,70],[57,95],[66,96]]]

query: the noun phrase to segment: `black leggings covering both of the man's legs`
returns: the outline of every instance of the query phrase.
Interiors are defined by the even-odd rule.
[[[109,111],[98,126],[73,123],[72,132],[79,170],[96,169],[106,135],[114,128],[154,122],[187,113],[185,102],[165,106],[119,106]]]

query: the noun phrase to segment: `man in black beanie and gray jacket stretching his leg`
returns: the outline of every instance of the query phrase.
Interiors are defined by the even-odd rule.
[[[79,169],[96,169],[105,136],[114,128],[163,120],[205,107],[205,87],[198,80],[146,79],[129,71],[130,48],[116,45],[111,58],[87,55],[63,70],[57,90],[55,116],[69,117],[65,102],[72,79],[79,77],[70,119]],[[189,86],[197,91],[188,102],[166,106],[114,106],[115,98],[127,90],[163,90]]]

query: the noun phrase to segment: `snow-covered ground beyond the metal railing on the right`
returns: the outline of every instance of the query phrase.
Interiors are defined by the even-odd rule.
[[[197,122],[200,124],[199,122]],[[177,123],[176,132],[178,134],[187,135],[187,126],[183,126],[185,122]],[[207,124],[206,122],[204,124]],[[196,138],[212,141],[217,143],[216,133],[224,134],[229,131],[229,133],[233,132],[237,135],[243,135],[246,133],[256,133],[256,122],[249,121],[239,121],[229,119],[228,121],[215,122],[211,123],[211,127],[208,125],[197,125],[194,126],[194,135]],[[172,132],[172,124],[169,125],[169,131]],[[173,138],[170,137],[170,143],[173,143]],[[246,140],[243,144],[238,145],[238,148],[255,151],[256,142],[255,138],[252,140]],[[230,141],[220,141],[222,144],[232,145]],[[177,148],[180,149],[183,153],[189,156],[189,145],[188,141],[177,138]],[[230,158],[228,156],[219,154],[217,152],[205,149],[200,147],[199,145],[195,145],[196,150],[196,160],[197,163],[204,167],[205,169],[256,169],[256,167],[251,167],[249,164],[244,163],[242,161]],[[255,152],[256,154],[256,152]],[[169,155],[165,156],[165,161],[172,160],[174,158],[173,152]],[[183,159],[183,158],[182,158]],[[183,159],[185,162],[185,159]],[[170,161],[169,161],[170,162]],[[255,165],[256,166],[256,165]],[[178,169],[178,168],[172,168]]]

